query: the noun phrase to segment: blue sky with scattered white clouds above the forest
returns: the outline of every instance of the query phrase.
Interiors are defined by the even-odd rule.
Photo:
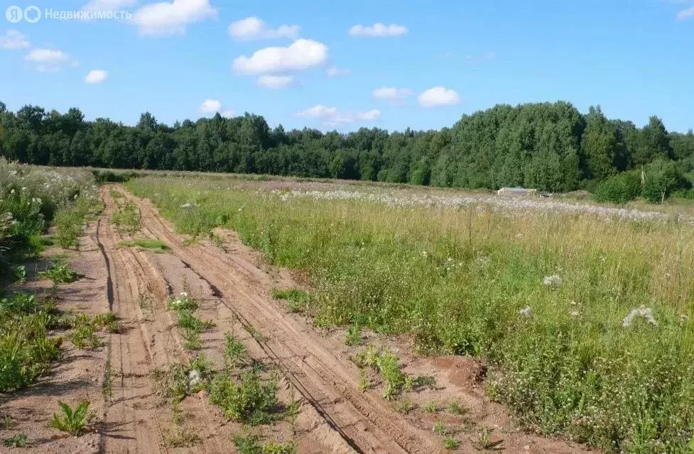
[[[563,100],[686,132],[694,0],[1,0],[0,100],[345,132]]]

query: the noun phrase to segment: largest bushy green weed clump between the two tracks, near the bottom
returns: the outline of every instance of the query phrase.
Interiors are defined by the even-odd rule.
[[[271,423],[279,406],[277,380],[262,380],[256,370],[246,370],[238,379],[222,371],[210,383],[210,402],[229,419],[251,426]]]

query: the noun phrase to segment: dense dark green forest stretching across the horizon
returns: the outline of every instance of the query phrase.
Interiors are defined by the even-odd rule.
[[[440,131],[352,133],[269,128],[262,116],[219,114],[173,126],[151,114],[136,126],[85,121],[0,102],[0,154],[40,165],[336,177],[440,187],[589,189],[607,200],[690,196],[694,133],[668,132],[660,118],[638,128],[600,107],[498,105]],[[688,190],[689,189],[689,190]],[[624,199],[624,200],[622,200]]]

